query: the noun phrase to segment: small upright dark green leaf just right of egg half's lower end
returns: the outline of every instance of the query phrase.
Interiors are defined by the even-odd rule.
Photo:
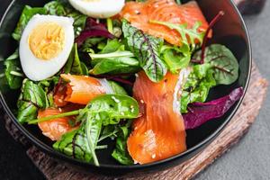
[[[73,48],[70,52],[70,55],[67,59],[67,64],[64,67],[65,74],[72,74],[72,75],[82,75],[83,69],[81,67],[80,58],[77,53],[77,46],[76,44],[73,45]]]

